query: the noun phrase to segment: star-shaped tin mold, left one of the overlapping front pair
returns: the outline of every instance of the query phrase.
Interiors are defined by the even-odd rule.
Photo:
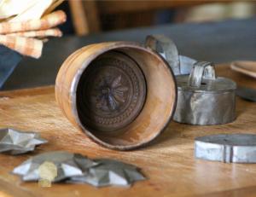
[[[27,159],[21,165],[15,167],[12,172],[16,175],[20,175],[23,181],[38,181],[41,178],[38,169],[44,162],[51,162],[57,168],[57,176],[53,182],[64,181],[73,176],[81,176],[86,173],[90,167],[97,165],[96,162],[81,154],[53,151],[38,154],[31,159]]]

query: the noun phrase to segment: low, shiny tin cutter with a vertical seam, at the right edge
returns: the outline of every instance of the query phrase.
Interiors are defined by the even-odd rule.
[[[256,163],[256,135],[223,134],[197,137],[195,157],[225,163]]]

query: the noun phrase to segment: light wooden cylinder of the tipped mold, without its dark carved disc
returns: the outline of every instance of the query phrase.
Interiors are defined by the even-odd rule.
[[[131,124],[122,126],[119,130],[106,132],[100,129],[100,124],[98,128],[90,127],[91,120],[86,118],[89,116],[89,110],[86,106],[84,107],[82,92],[85,89],[84,83],[88,82],[84,82],[83,78],[86,76],[83,77],[83,75],[86,69],[90,69],[88,67],[93,67],[92,62],[98,62],[98,58],[102,55],[109,55],[112,61],[117,61],[116,54],[111,55],[111,51],[127,55],[132,61],[137,62],[147,84],[147,96],[143,109]],[[121,62],[125,65],[127,63],[125,60]],[[130,75],[129,72],[127,75]],[[67,119],[83,130],[92,140],[108,148],[128,150],[142,147],[160,135],[172,118],[177,92],[172,72],[166,61],[163,61],[159,55],[137,43],[108,42],[90,44],[67,57],[56,78],[55,97]],[[131,110],[134,109],[131,108]],[[121,116],[119,118],[127,119]]]

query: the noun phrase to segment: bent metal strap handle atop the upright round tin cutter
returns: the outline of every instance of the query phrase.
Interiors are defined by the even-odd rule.
[[[189,75],[189,86],[197,87],[201,86],[202,79],[215,79],[215,69],[211,62],[197,61]]]

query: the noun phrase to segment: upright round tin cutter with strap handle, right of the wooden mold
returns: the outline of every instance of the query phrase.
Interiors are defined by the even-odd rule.
[[[190,75],[177,78],[174,120],[191,125],[220,125],[236,119],[236,83],[215,76],[209,62],[195,63]]]

